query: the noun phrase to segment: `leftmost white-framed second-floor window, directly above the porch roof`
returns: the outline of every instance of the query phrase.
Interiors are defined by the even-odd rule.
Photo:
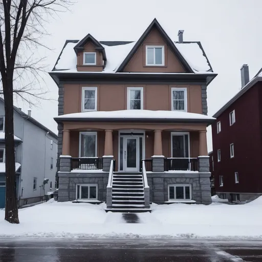
[[[82,111],[97,110],[97,88],[82,89]]]

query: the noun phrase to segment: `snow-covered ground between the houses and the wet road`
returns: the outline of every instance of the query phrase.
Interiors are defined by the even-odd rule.
[[[0,210],[0,236],[262,238],[262,197],[245,205],[152,204],[151,213],[138,213],[139,224],[104,207],[51,200],[20,209],[19,225],[4,221]]]

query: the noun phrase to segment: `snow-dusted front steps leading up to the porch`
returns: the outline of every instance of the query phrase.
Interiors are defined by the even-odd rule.
[[[145,208],[142,173],[115,172],[112,182],[112,212],[151,212]]]

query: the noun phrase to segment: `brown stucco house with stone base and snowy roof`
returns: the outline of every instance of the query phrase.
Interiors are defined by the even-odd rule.
[[[138,41],[67,40],[50,76],[58,98],[58,201],[211,202],[207,85],[200,42],[173,41],[154,19]]]

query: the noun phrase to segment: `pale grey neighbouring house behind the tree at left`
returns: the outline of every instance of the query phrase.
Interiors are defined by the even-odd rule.
[[[28,114],[14,107],[16,195],[19,207],[43,200],[55,190],[57,135]],[[0,98],[0,208],[5,207],[5,107]]]

